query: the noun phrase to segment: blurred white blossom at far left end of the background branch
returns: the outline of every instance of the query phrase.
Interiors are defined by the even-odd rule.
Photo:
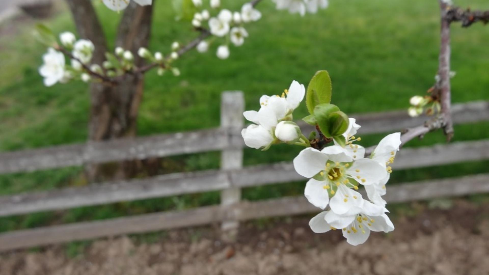
[[[39,74],[44,77],[44,85],[49,87],[57,82],[61,82],[65,76],[65,55],[63,53],[48,48],[43,55],[44,64],[39,68]]]

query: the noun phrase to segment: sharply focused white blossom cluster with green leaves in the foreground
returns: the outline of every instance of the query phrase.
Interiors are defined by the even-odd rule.
[[[316,85],[313,80],[310,87]],[[310,87],[308,94],[317,92]],[[289,90],[285,90],[281,96],[262,96],[258,112],[244,112],[244,117],[254,123],[242,131],[245,144],[262,150],[280,142],[307,147],[294,158],[293,165],[299,175],[309,178],[304,190],[307,200],[325,210],[311,219],[309,225],[312,231],[323,233],[341,229],[349,244],[358,245],[367,240],[370,231],[394,230],[386,215],[388,210],[382,196],[386,194],[385,184],[392,173],[390,164],[400,148],[400,133],[383,138],[370,157],[365,157],[365,148],[357,144],[361,138],[356,137],[360,129],[356,119],[346,118],[346,122],[343,122],[343,118],[337,118],[339,109],[325,103],[315,106],[315,110],[319,111],[314,112],[314,123],[321,124],[324,117],[329,117],[329,129],[317,125],[317,129],[321,129],[319,136],[322,141],[321,138],[306,138],[299,126],[292,122],[292,113],[304,95],[304,85],[293,81]],[[318,98],[321,98],[321,94],[318,94]],[[324,110],[329,110],[329,113]],[[311,121],[311,118],[308,120]],[[336,126],[338,123],[344,125]],[[327,131],[334,133],[334,129],[342,129],[342,138],[324,137]],[[334,141],[334,144],[319,148],[318,142],[323,141]],[[357,191],[361,186],[364,186],[367,198]]]

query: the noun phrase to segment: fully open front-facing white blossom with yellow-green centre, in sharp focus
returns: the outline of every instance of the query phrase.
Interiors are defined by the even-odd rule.
[[[319,151],[314,148],[302,150],[293,160],[295,171],[306,178],[304,194],[308,201],[324,209],[328,206],[336,214],[344,214],[352,207],[363,204],[360,193],[352,190],[358,185],[378,183],[385,176],[385,168],[376,160],[353,159],[337,145]],[[329,196],[331,202],[329,202]]]

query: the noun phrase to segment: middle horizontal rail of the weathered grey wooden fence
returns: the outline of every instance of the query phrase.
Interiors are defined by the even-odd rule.
[[[488,159],[489,140],[479,140],[406,148],[399,152],[392,166],[394,169],[408,169]],[[306,181],[288,162],[229,171],[174,173],[140,180],[3,196],[0,197],[0,216],[301,180]]]

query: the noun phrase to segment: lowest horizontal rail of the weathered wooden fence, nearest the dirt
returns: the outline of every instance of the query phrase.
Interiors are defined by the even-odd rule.
[[[463,196],[489,192],[489,174],[402,183],[389,186],[385,199],[402,203],[431,198]],[[74,223],[0,234],[0,251],[47,244],[79,241],[105,236],[142,233],[218,223],[224,219],[289,216],[319,212],[305,197],[285,197],[259,202],[242,202],[233,206],[205,206],[191,210],[167,211],[105,221]]]

